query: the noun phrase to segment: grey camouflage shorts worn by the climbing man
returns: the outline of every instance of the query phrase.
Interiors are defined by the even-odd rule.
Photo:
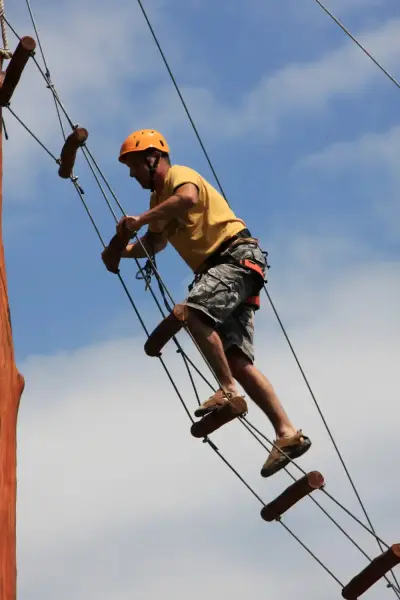
[[[186,304],[202,311],[219,333],[225,352],[239,348],[254,361],[254,307],[245,303],[260,289],[260,276],[240,265],[222,262],[231,257],[249,259],[266,272],[266,258],[255,243],[227,249],[220,255],[221,264],[196,277]]]

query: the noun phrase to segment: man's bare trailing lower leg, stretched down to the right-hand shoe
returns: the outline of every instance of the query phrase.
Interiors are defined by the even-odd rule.
[[[296,429],[265,375],[239,350],[229,352],[228,362],[235,379],[270,420],[277,439],[294,435]]]

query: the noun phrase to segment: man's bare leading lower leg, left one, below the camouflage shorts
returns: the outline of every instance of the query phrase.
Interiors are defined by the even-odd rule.
[[[187,326],[213,369],[222,389],[225,393],[237,396],[236,382],[225,356],[221,338],[198,316],[195,309],[189,307],[188,313]]]

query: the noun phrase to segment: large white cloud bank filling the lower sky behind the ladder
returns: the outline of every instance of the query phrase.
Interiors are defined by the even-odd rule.
[[[395,514],[398,486],[385,471],[388,456],[397,451],[399,264],[369,260],[337,272],[319,250],[314,243],[310,256],[321,257],[327,269],[320,272],[305,260],[307,298],[292,271],[285,280],[275,277],[271,293],[376,527],[395,542],[388,515]],[[266,299],[263,304],[258,364],[314,442],[299,464],[320,469],[328,491],[361,516]],[[181,339],[196,356],[186,336]],[[193,600],[205,593],[239,598],[249,590],[261,598],[268,586],[271,597],[284,600],[296,586],[300,600],[321,589],[327,600],[336,598],[339,586],[279,524],[264,523],[244,486],[191,438],[161,366],[143,355],[143,341],[120,339],[71,354],[30,357],[20,365],[27,380],[18,436],[24,597],[47,598],[58,589],[62,600],[80,600],[89,592],[101,600],[111,594],[116,600],[152,598],[160,591],[168,600],[188,591]],[[193,410],[180,359],[172,347],[164,357]],[[200,390],[205,397],[207,387]],[[249,419],[272,437],[251,403]],[[260,478],[266,452],[239,423],[212,439],[265,501],[290,483],[284,473]],[[294,467],[291,471],[298,476]],[[371,556],[377,554],[372,538],[321,494],[316,497]],[[379,510],[382,504],[385,511]],[[310,501],[284,522],[344,582],[365,565]],[[371,600],[381,599],[383,589],[377,585]]]

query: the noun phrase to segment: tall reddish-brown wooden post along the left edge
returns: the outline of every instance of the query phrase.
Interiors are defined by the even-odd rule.
[[[9,72],[12,87],[18,81],[15,72],[15,68]],[[0,55],[0,85],[4,79]],[[0,599],[16,600],[17,416],[25,381],[15,365],[3,247],[2,111],[0,106]]]

